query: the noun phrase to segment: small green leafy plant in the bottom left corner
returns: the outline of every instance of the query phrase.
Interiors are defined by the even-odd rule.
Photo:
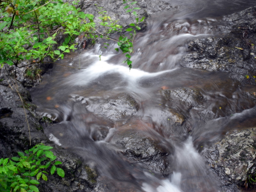
[[[0,191],[39,192],[38,180],[47,181],[49,171],[64,177],[63,169],[56,167],[61,162],[55,161],[56,156],[50,149],[52,147],[38,144],[24,153],[18,152],[19,157],[1,158]]]

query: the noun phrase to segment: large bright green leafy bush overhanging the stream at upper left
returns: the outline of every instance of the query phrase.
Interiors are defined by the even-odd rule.
[[[126,31],[130,33],[130,38],[121,35],[118,46],[123,53],[127,53],[126,62],[131,68],[132,61],[130,54],[133,51],[133,40],[135,30],[140,30],[137,13],[131,8],[137,1],[124,1],[126,12],[135,15],[136,23],[130,24],[133,28]],[[74,51],[75,38],[77,36],[86,38],[107,38],[112,39],[108,34],[120,32],[122,26],[116,24],[105,11],[100,10],[100,26],[105,27],[105,31],[97,31],[92,14],[86,14],[74,5],[64,3],[62,0],[4,0],[0,1],[0,64],[6,63],[17,65],[21,60],[33,60],[31,64],[42,61],[46,56],[53,60],[63,58],[64,53]],[[58,45],[58,37],[62,36],[64,41]],[[95,40],[94,40],[95,41]],[[57,49],[56,49],[57,48]]]

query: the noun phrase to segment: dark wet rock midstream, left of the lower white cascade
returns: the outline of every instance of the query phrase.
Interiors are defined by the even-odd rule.
[[[118,132],[112,140],[124,148],[124,155],[128,158],[147,164],[154,171],[167,174],[169,150],[161,146],[162,141],[152,139],[145,133],[132,128],[136,126],[137,129],[143,129],[140,125],[139,123],[127,124],[120,127],[123,130]]]

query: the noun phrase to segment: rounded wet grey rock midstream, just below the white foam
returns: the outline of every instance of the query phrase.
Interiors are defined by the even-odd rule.
[[[131,95],[124,93],[108,98],[95,110],[95,114],[116,121],[134,115],[139,107]]]

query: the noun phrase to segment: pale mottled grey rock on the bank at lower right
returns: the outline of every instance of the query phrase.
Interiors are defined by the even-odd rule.
[[[249,174],[256,173],[256,129],[228,134],[209,148],[204,156],[212,171],[220,178],[222,188],[243,186]]]

